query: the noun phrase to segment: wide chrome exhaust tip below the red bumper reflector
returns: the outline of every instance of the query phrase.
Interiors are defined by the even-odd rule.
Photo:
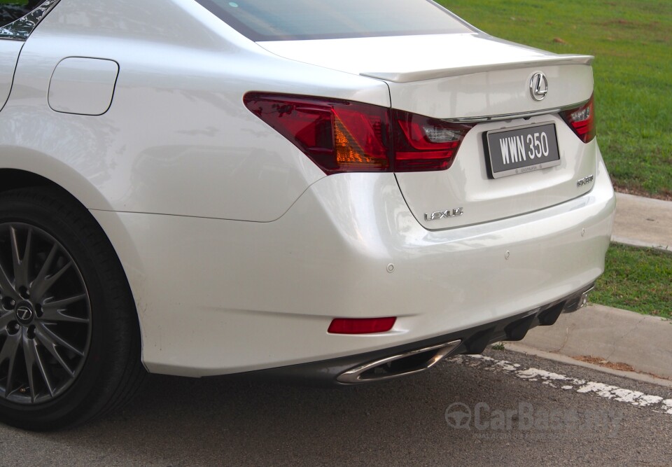
[[[336,380],[342,384],[361,384],[413,375],[432,368],[449,356],[461,343],[461,340],[454,340],[381,358],[343,372]]]

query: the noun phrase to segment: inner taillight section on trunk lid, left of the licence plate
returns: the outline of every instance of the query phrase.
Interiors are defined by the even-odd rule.
[[[449,168],[465,134],[474,126],[404,111],[394,111],[394,120],[398,125],[394,135],[396,172]]]

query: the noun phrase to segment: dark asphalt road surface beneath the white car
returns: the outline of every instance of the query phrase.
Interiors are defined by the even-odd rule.
[[[672,465],[657,403],[671,389],[488,354],[511,364],[463,358],[347,389],[152,377],[123,412],[71,431],[0,426],[0,465]]]

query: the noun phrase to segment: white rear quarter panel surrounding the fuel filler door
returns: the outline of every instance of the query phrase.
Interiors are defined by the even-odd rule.
[[[31,156],[6,162],[0,155],[4,167],[54,179],[91,209],[267,222],[325,175],[244,107],[245,92],[389,106],[384,83],[294,64],[251,42],[240,46],[237,33],[231,41],[221,36],[219,20],[214,25],[223,31],[188,18],[185,9],[194,4],[151,0],[137,9],[130,0],[72,0],[52,11],[26,43],[16,74],[21,86],[0,114],[3,144],[29,148]],[[118,8],[137,13],[134,22]],[[144,28],[158,20],[174,35]],[[64,56],[118,62],[114,104],[104,116],[49,109],[50,77]],[[33,122],[25,127],[31,132],[11,129],[21,121]],[[43,172],[54,160],[75,176]]]

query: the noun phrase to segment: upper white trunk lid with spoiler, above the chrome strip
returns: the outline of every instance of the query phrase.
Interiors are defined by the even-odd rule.
[[[591,57],[570,60],[476,34],[260,45],[298,62],[386,79],[395,109],[435,118],[555,109],[586,101],[593,88]],[[549,93],[541,102],[535,102],[529,91],[536,71],[543,71],[549,84]]]

